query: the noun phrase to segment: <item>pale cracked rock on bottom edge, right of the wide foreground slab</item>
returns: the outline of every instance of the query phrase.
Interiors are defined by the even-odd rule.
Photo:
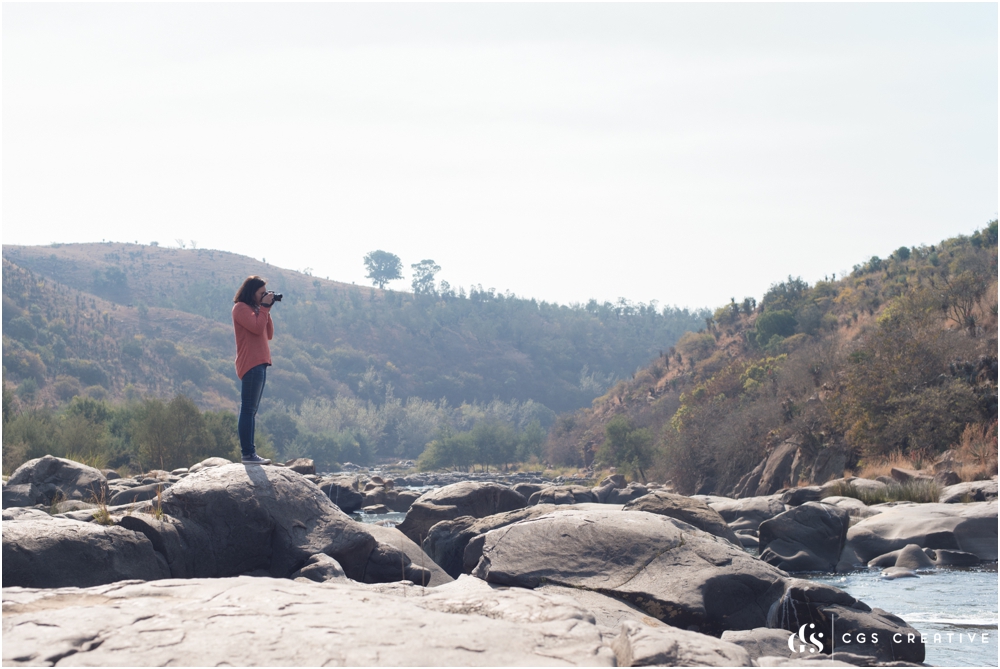
[[[620,667],[749,667],[746,650],[723,639],[676,627],[625,621],[611,642]],[[787,635],[786,635],[787,636]]]

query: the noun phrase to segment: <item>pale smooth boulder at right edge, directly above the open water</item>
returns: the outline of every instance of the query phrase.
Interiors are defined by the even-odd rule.
[[[886,508],[847,532],[845,553],[867,563],[880,555],[916,544],[997,559],[997,503],[913,504]]]

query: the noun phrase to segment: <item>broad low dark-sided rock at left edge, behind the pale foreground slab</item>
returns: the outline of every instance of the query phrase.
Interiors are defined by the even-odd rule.
[[[3,523],[3,587],[61,588],[169,578],[146,537],[123,527],[26,515]]]

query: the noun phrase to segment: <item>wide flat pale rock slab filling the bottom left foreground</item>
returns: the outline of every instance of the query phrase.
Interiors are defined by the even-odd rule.
[[[5,666],[613,666],[576,602],[525,590],[166,580],[5,589]]]

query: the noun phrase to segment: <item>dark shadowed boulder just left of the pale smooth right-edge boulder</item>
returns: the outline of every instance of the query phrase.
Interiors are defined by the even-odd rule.
[[[819,502],[792,507],[760,524],[760,559],[778,569],[835,571],[850,516]]]

